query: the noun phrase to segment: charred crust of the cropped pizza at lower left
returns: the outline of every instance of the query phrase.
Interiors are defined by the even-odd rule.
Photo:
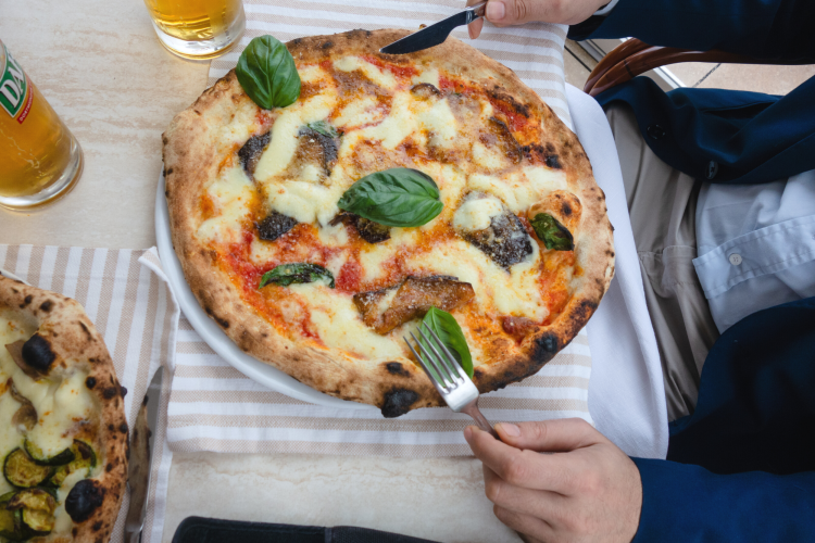
[[[68,533],[52,532],[29,541],[108,541],[127,481],[128,428],[124,411],[126,390],[116,379],[104,341],[75,300],[1,275],[0,308],[10,308],[24,319],[34,319],[36,336],[41,339],[40,348],[53,356],[48,375],[72,369],[87,372],[85,387],[96,407],[82,438],[97,454],[97,475],[80,481],[79,489],[77,483],[72,504],[64,504],[73,528]]]

